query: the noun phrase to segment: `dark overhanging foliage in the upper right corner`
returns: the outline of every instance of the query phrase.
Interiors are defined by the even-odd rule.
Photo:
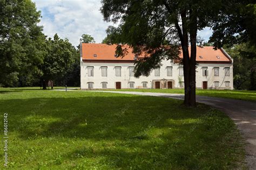
[[[256,45],[256,4],[255,1],[228,1],[215,16],[211,24],[210,38],[215,47],[232,46],[242,42]]]

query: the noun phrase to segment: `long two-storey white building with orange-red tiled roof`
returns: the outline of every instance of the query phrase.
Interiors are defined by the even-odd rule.
[[[150,76],[133,76],[134,54],[115,57],[116,45],[80,44],[81,89],[183,88],[183,67],[164,60]],[[197,47],[196,87],[233,89],[233,60],[224,49]]]

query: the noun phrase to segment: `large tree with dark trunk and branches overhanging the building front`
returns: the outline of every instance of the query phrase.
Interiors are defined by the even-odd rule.
[[[232,5],[240,3],[232,1]],[[101,12],[107,22],[119,23],[119,43],[128,44],[136,55],[147,58],[136,61],[135,76],[149,75],[163,59],[177,61],[183,53],[186,106],[196,105],[197,32],[210,26],[228,1],[135,1],[102,0]],[[190,46],[190,47],[189,47]],[[118,56],[126,49],[117,47]]]

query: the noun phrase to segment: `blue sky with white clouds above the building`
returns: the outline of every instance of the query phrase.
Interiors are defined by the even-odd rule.
[[[107,26],[113,23],[104,22],[100,13],[100,0],[32,0],[37,10],[41,11],[41,22],[44,34],[53,37],[68,38],[73,46],[79,44],[82,34],[90,34],[96,43],[106,37]],[[212,31],[209,28],[198,32],[208,41]]]

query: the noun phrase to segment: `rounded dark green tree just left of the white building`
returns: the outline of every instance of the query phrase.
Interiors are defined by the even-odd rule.
[[[53,40],[46,40],[46,51],[43,64],[41,65],[43,89],[46,89],[49,80],[57,80],[67,73],[77,56],[77,50],[68,39],[60,39],[55,34]]]

